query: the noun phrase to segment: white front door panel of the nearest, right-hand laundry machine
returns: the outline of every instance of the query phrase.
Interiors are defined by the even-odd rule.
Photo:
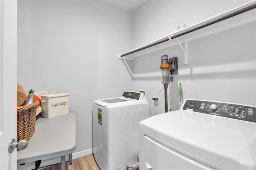
[[[142,139],[142,153],[139,156],[140,170],[214,170],[148,136]]]

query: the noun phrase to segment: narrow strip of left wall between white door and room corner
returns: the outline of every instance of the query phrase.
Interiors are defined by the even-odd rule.
[[[26,92],[33,85],[33,14],[32,1],[18,1],[18,74],[17,83]]]

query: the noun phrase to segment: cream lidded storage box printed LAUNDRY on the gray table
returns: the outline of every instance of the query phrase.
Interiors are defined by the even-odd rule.
[[[41,95],[42,117],[51,118],[69,113],[68,93]]]

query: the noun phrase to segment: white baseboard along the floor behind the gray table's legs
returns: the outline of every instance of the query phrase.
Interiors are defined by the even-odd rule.
[[[81,156],[85,156],[85,155],[88,155],[91,153],[92,153],[92,148],[88,149],[88,150],[83,150],[80,152],[75,152],[75,153],[72,153],[72,159],[79,158]],[[60,160],[61,160],[60,157],[42,160],[40,167],[50,166],[53,164],[59,164]],[[68,161],[68,155],[65,157],[65,160]],[[34,168],[35,168],[35,162],[28,162],[24,165],[17,165],[17,170],[28,170],[28,169],[34,169]],[[40,170],[40,168],[38,168],[38,170]]]

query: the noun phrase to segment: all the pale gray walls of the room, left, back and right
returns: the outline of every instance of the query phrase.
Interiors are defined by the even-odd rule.
[[[160,77],[132,81],[116,53],[244,2],[148,1],[132,13],[95,0],[19,0],[17,82],[26,92],[69,93],[70,110],[77,111],[75,152],[90,153],[95,99],[120,96],[124,90],[146,89],[152,105],[152,97],[162,89]],[[179,74],[173,76],[170,87],[172,110],[178,109],[179,83],[183,99],[256,105],[253,30],[255,23],[189,42],[188,65],[184,65],[184,53],[178,45],[136,57],[130,64],[134,73],[160,73],[161,55],[178,57]],[[246,34],[239,35],[241,31]],[[163,112],[162,100],[156,114]],[[154,115],[154,108],[150,108],[150,115]]]

